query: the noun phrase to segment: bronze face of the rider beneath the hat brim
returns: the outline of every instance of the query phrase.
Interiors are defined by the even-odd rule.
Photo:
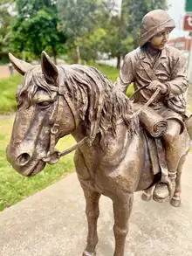
[[[165,29],[164,31],[161,31],[160,33],[156,34],[153,38],[149,40],[149,44],[155,50],[164,49],[166,43],[168,42],[169,33],[170,33],[170,29]]]

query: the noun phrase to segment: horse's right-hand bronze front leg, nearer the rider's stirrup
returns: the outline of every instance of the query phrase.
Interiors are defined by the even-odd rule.
[[[125,195],[123,195],[125,199]],[[128,219],[130,217],[134,201],[134,194],[127,194],[126,200],[118,198],[113,201],[114,213],[114,238],[115,238],[115,251],[113,256],[124,256],[125,242],[128,232]]]

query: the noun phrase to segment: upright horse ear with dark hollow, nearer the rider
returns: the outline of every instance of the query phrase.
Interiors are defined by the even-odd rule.
[[[45,75],[45,80],[48,82],[55,82],[58,79],[57,66],[52,62],[51,58],[44,51],[41,54],[41,69]]]

